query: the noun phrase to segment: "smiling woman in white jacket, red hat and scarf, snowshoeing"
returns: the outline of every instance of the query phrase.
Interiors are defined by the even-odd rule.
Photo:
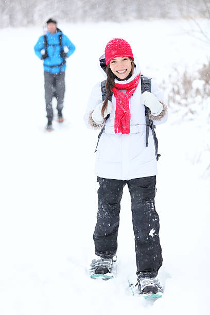
[[[149,108],[153,124],[166,121],[167,108],[153,81],[152,93],[146,91],[142,94],[141,71],[128,42],[111,40],[105,49],[105,60],[107,97],[102,102],[99,82],[93,88],[85,113],[88,127],[101,129],[104,126],[95,165],[100,187],[94,232],[98,258],[91,264],[92,277],[111,276],[117,251],[120,200],[122,190],[128,184],[138,288],[140,293],[156,293],[161,290],[156,276],[162,265],[159,216],[154,205],[157,167],[151,129],[146,146],[145,106]]]

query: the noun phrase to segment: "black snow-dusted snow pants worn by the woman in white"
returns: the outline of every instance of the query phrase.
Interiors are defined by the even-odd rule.
[[[155,211],[156,177],[114,180],[98,177],[98,214],[93,235],[96,255],[111,258],[117,251],[120,201],[128,184],[131,196],[137,275],[155,277],[162,266],[159,216]]]

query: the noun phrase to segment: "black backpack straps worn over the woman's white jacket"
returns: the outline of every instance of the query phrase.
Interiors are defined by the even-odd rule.
[[[107,80],[104,80],[101,82],[102,101],[104,101],[107,97],[106,81]],[[152,90],[151,78],[147,78],[147,77],[141,75],[141,83],[142,83],[142,93],[144,93],[145,91],[151,92],[151,90]],[[113,93],[109,97],[110,101],[112,101],[112,95],[113,95]],[[110,116],[110,114],[107,115],[107,117],[105,118],[105,121],[109,118],[109,116]],[[151,128],[153,139],[154,139],[156,160],[158,161],[160,156],[161,156],[161,154],[158,153],[158,138],[156,137],[156,134],[154,131],[155,126],[153,125],[153,121],[151,119],[149,119],[149,108],[146,106],[145,106],[145,118],[146,118],[146,147],[148,147],[149,128]],[[105,128],[105,124],[103,125],[103,128],[101,129],[101,132],[98,135],[98,142],[96,145],[95,152],[97,151],[99,139],[100,139],[100,137],[104,131],[104,128]]]

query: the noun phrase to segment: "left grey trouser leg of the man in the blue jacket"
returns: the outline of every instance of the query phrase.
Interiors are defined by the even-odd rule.
[[[46,112],[48,121],[53,120],[53,107],[52,107],[52,99],[53,99],[53,82],[54,82],[54,74],[49,72],[44,72],[44,90],[45,90],[45,103],[46,103]]]

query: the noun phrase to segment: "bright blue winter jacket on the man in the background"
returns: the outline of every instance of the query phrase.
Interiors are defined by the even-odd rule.
[[[64,72],[66,65],[62,64],[64,58],[60,57],[60,44],[59,44],[59,35],[62,34],[62,47],[66,46],[68,51],[66,53],[67,57],[71,56],[75,51],[75,45],[65,36],[61,31],[57,31],[55,34],[49,32],[46,33],[47,37],[47,53],[48,58],[44,59],[44,71],[50,73],[60,73]],[[34,46],[35,54],[41,59],[42,55],[41,50],[45,50],[44,45],[44,35],[41,36]],[[58,66],[57,66],[58,65]]]

